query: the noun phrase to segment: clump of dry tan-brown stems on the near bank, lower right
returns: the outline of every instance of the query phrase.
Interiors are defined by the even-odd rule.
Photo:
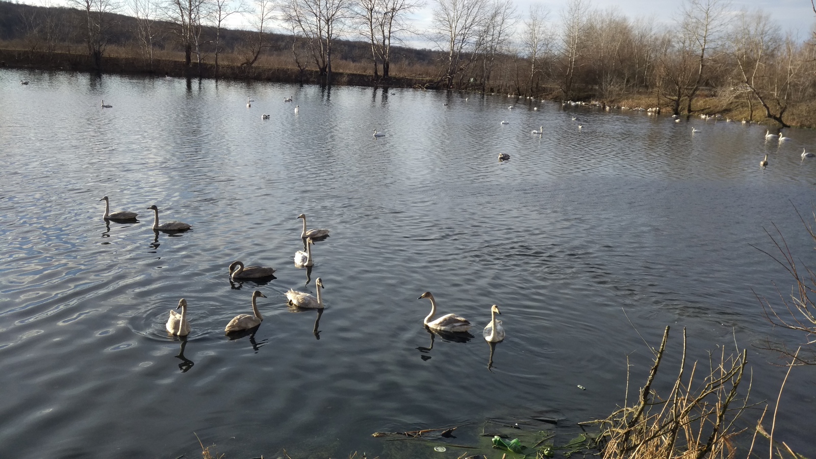
[[[734,456],[732,439],[740,433],[734,421],[747,408],[747,394],[739,395],[747,354],[709,354],[708,368],[695,381],[701,366],[691,364],[686,371],[686,336],[679,372],[666,399],[652,390],[663,361],[669,328],[654,352],[654,364],[646,384],[632,406],[624,406],[600,424],[605,436],[604,459],[723,459]],[[750,383],[749,389],[750,391]],[[627,394],[628,399],[628,394]]]

